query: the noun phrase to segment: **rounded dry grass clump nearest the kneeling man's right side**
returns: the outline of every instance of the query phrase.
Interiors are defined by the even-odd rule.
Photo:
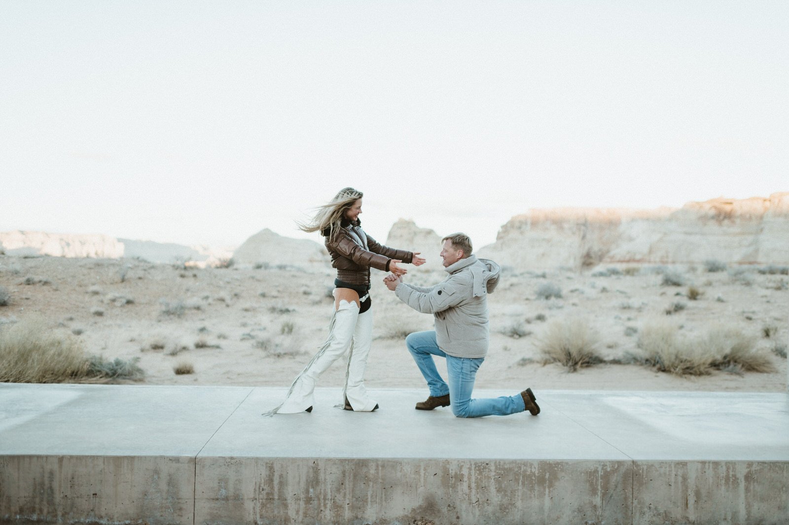
[[[548,323],[537,348],[543,363],[560,363],[567,371],[603,363],[597,353],[600,337],[583,318],[556,319]]]

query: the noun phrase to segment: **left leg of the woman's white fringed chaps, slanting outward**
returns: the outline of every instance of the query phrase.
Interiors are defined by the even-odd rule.
[[[329,335],[318,353],[301,371],[290,386],[285,401],[267,414],[296,414],[312,407],[315,402],[315,384],[331,363],[344,356],[353,340],[353,330],[357,325],[359,307],[354,301],[340,301],[331,319]]]

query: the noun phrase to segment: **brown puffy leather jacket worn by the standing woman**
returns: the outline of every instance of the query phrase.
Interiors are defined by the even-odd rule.
[[[361,229],[361,221],[342,222],[331,238],[326,235],[326,249],[331,256],[331,266],[337,269],[337,278],[349,285],[369,285],[370,267],[389,271],[392,259],[411,263],[413,253],[383,246]]]

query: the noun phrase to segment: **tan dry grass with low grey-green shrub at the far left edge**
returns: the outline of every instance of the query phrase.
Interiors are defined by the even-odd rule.
[[[42,321],[25,320],[0,330],[0,382],[62,383],[141,378],[136,360],[85,355],[82,341],[50,330]]]

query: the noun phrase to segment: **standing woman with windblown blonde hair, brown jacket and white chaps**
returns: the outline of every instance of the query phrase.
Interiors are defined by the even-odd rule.
[[[326,237],[326,248],[331,255],[331,266],[337,269],[335,279],[335,314],[329,325],[329,336],[301,374],[290,385],[285,401],[264,415],[294,414],[312,411],[315,384],[331,363],[350,353],[346,369],[346,384],[342,390],[346,410],[371,412],[378,408],[365,389],[364,375],[367,356],[372,343],[372,311],[370,306],[370,268],[406,274],[398,263],[424,264],[419,252],[387,248],[378,244],[361,229],[361,198],[353,188],[343,188],[318,209],[318,213],[299,229],[312,233],[320,231]]]

